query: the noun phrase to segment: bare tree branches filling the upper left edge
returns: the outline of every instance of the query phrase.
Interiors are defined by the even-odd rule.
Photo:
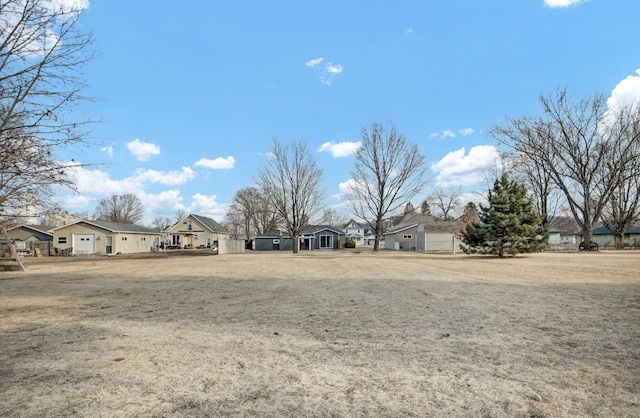
[[[51,187],[74,187],[63,149],[88,145],[82,69],[92,36],[77,2],[0,0],[0,214],[49,203]]]

